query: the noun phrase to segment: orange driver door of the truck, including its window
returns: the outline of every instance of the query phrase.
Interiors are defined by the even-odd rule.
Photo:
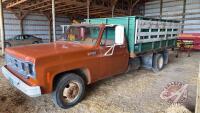
[[[129,53],[127,45],[115,43],[115,27],[106,27],[100,43],[100,69],[103,78],[120,74],[128,67]],[[124,38],[124,35],[123,37]]]

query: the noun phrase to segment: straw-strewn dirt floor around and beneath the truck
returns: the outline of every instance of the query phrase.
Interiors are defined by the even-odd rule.
[[[170,104],[160,99],[160,93],[172,81],[189,84],[187,104],[193,109],[200,52],[192,53],[191,57],[187,57],[186,54],[179,58],[174,56],[173,53],[170,54],[169,64],[159,73],[141,69],[90,85],[85,99],[67,110],[56,107],[51,101],[51,95],[38,98],[25,96],[0,76],[0,112],[162,113]]]

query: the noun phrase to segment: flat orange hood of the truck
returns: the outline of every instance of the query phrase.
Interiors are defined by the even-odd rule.
[[[6,54],[13,55],[20,59],[33,61],[40,57],[79,52],[89,48],[91,48],[91,46],[73,42],[58,41],[47,44],[11,47],[6,49]]]

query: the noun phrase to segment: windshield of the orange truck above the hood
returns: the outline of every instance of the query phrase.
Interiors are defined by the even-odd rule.
[[[97,26],[70,26],[64,33],[64,39],[86,45],[95,45],[100,28]]]

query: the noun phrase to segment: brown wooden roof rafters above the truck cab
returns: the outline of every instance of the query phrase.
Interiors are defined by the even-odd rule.
[[[131,1],[131,2],[130,2]],[[55,0],[56,14],[68,12],[78,15],[127,15],[130,7],[133,8],[140,0],[91,0],[90,7],[87,9],[87,0]],[[130,4],[131,3],[131,4]],[[8,0],[7,9],[29,10],[30,12],[51,13],[51,0]]]

